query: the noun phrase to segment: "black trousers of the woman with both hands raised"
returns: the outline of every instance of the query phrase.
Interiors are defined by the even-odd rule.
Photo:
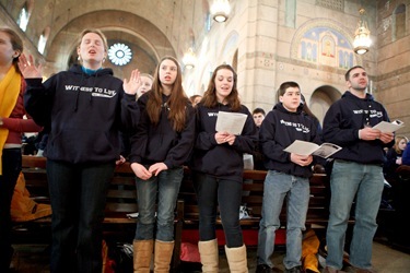
[[[115,163],[47,161],[52,218],[50,272],[102,272],[104,210]]]

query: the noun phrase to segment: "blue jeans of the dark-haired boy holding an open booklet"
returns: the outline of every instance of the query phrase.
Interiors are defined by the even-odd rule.
[[[309,202],[308,178],[269,170],[263,183],[262,218],[258,236],[258,264],[273,268],[271,257],[274,250],[276,232],[280,228],[280,214],[286,199],[286,269],[301,265],[302,232]]]

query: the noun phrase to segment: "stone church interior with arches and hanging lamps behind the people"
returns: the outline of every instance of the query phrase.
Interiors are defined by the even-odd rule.
[[[367,93],[405,122],[396,134],[410,136],[410,0],[0,0],[0,25],[19,33],[45,79],[77,63],[84,28],[99,28],[104,67],[119,79],[153,74],[173,56],[187,96],[202,95],[227,63],[250,111],[271,110],[279,85],[295,81],[320,122],[347,91],[347,70],[362,66]],[[376,249],[379,268],[389,257],[400,263],[380,272],[408,272],[408,253]]]

